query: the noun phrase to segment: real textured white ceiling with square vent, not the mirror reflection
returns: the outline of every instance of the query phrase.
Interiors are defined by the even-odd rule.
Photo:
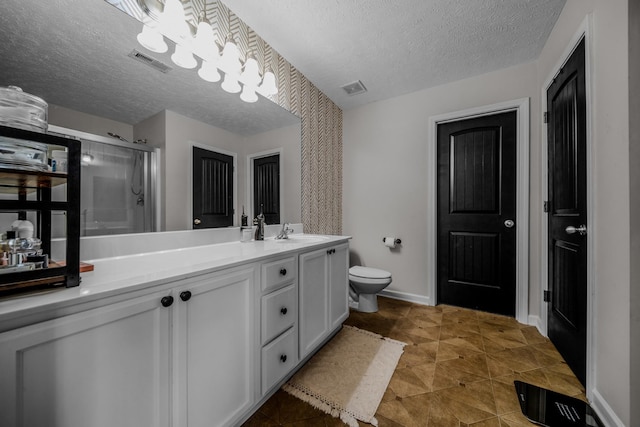
[[[565,0],[223,0],[343,109],[535,60]],[[341,86],[361,80],[367,92]]]

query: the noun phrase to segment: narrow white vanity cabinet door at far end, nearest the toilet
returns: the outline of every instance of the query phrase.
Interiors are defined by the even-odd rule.
[[[349,317],[349,245],[333,248],[329,255],[329,322],[330,330]]]

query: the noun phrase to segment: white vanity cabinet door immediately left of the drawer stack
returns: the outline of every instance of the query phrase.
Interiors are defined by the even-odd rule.
[[[252,406],[260,356],[255,271],[215,273],[176,288],[175,426],[234,425]]]

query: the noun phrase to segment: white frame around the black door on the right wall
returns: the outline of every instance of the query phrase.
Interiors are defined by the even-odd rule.
[[[595,325],[597,322],[596,319],[596,283],[595,283],[595,228],[590,227],[589,224],[595,224],[595,206],[594,206],[594,193],[595,193],[595,180],[594,180],[594,164],[593,164],[593,120],[592,120],[592,105],[593,105],[593,43],[592,43],[592,16],[587,15],[582,24],[578,28],[578,31],[573,35],[567,48],[564,53],[560,57],[560,60],[556,64],[556,66],[552,69],[552,72],[549,74],[547,79],[544,81],[542,85],[542,95],[540,108],[542,109],[542,114],[540,117],[544,117],[544,112],[547,110],[547,90],[549,86],[551,86],[551,82],[558,75],[560,69],[566,64],[569,60],[569,57],[576,49],[580,41],[584,38],[584,53],[585,53],[585,90],[586,90],[586,150],[587,150],[587,372],[586,372],[586,394],[587,399],[593,401],[593,385],[595,385]],[[548,153],[547,153],[547,125],[542,123],[541,131],[540,131],[540,140],[541,140],[541,159],[540,159],[540,167],[541,167],[541,193],[542,200],[548,200],[548,178],[547,178],[547,167],[548,167]],[[543,301],[542,293],[545,290],[549,289],[549,247],[547,245],[547,238],[549,235],[549,224],[547,214],[544,212],[540,213],[541,215],[541,229],[540,235],[544,239],[541,247],[540,247],[540,274],[541,274],[541,282],[542,289],[539,295],[540,301],[540,325],[539,329],[543,335],[547,336],[548,332],[548,324],[547,324],[547,303]]]

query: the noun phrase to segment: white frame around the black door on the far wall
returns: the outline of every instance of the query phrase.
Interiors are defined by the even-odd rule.
[[[486,105],[429,117],[427,146],[427,268],[428,295],[437,302],[437,178],[438,124],[516,111],[517,169],[516,169],[516,320],[529,323],[529,98]]]

